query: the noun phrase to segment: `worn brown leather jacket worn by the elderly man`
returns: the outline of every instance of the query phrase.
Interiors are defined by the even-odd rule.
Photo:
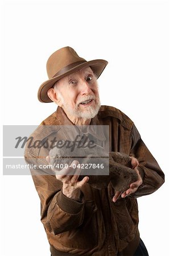
[[[63,109],[45,119],[31,135],[42,140],[52,138],[44,134],[42,125],[73,125]],[[134,123],[120,110],[101,106],[90,125],[109,125],[110,151],[133,154],[139,161],[143,184],[136,193],[113,203],[114,189],[94,189],[87,183],[82,188],[82,201],[64,196],[61,181],[53,175],[33,175],[41,201],[41,221],[56,255],[133,255],[139,244],[138,204],[136,197],[149,195],[164,183],[164,174],[143,143]],[[56,131],[59,139],[62,133]],[[48,155],[48,148],[45,152]],[[25,150],[27,163],[38,166],[39,150]],[[45,158],[39,159],[47,164]],[[43,170],[41,170],[43,171]],[[45,171],[45,170],[44,170]],[[32,170],[31,170],[32,172]]]

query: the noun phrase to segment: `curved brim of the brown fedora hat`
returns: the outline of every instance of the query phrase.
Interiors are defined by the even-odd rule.
[[[81,68],[84,67],[90,67],[92,68],[92,71],[96,74],[97,78],[101,75],[101,73],[103,72],[103,70],[105,69],[106,65],[108,64],[108,62],[106,60],[90,60],[90,61],[86,61],[85,63],[79,64],[74,68],[69,69],[67,72],[59,75],[59,76],[55,76],[52,79],[49,79],[45,82],[43,82],[42,85],[40,85],[40,88],[38,90],[38,99],[40,102],[52,102],[52,100],[48,97],[47,92],[50,88],[52,88],[52,86],[55,84],[56,81],[58,81],[59,79],[78,71]]]

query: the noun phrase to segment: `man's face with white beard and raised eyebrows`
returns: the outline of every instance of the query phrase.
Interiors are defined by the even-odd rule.
[[[90,67],[57,81],[55,91],[60,106],[72,119],[93,118],[100,108],[97,79]]]

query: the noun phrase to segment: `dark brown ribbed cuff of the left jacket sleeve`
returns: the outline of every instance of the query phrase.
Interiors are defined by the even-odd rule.
[[[83,193],[81,195],[83,196]],[[80,212],[82,207],[84,207],[84,203],[78,202],[65,196],[62,191],[60,191],[57,196],[57,204],[59,205],[61,210],[71,214],[76,214]]]

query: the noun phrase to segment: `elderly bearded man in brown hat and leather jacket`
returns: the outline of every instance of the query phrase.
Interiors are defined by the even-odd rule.
[[[81,170],[67,175],[73,164],[77,167],[75,160],[63,168],[65,172],[47,174],[40,163],[50,162],[50,148],[47,144],[29,148],[27,144],[25,159],[37,166],[31,172],[52,256],[148,255],[139,236],[136,197],[156,191],[164,183],[164,174],[134,123],[120,110],[100,105],[97,79],[106,65],[105,60],[86,61],[71,47],[54,52],[47,61],[49,80],[40,86],[38,98],[55,102],[58,108],[32,137],[50,141],[55,136],[61,140],[69,136],[63,126],[107,125],[109,151],[131,156],[137,179],[125,191],[117,191],[111,182],[96,189],[88,182],[90,175],[79,179]]]

